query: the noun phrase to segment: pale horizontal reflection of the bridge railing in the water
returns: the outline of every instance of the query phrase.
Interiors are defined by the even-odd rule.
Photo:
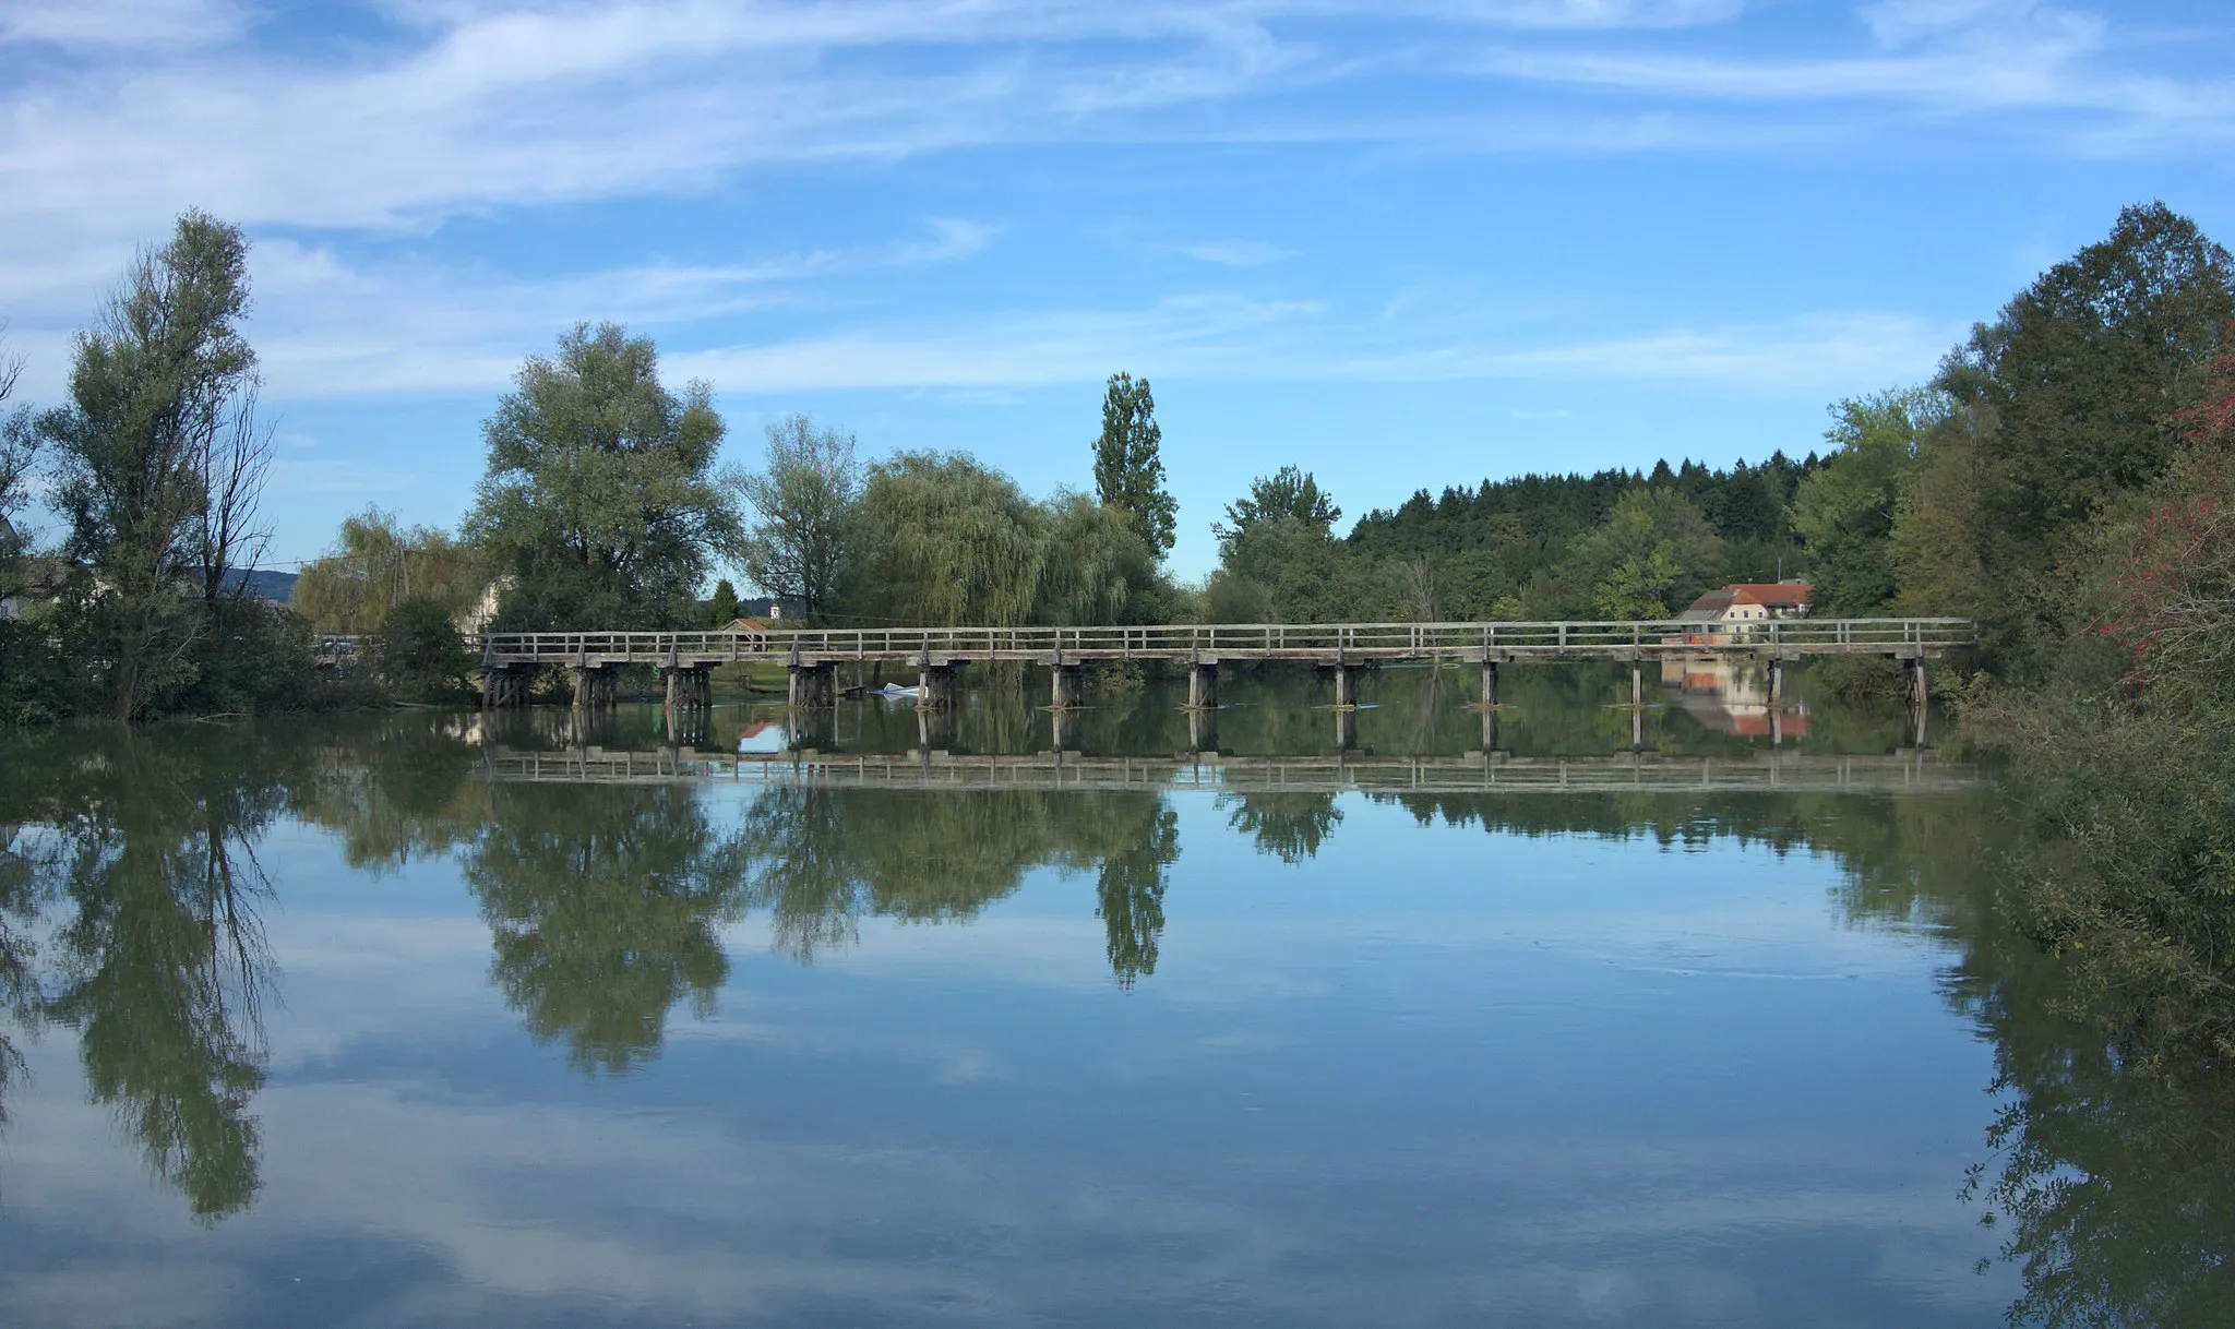
[[[787,784],[814,788],[1225,793],[1953,793],[1989,788],[1978,766],[1922,748],[1886,755],[1750,753],[1741,757],[1082,757],[1075,753],[700,753],[693,748],[530,753],[485,748],[485,777],[552,784]]]

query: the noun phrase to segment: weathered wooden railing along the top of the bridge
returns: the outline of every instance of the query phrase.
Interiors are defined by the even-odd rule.
[[[668,659],[932,657],[1473,657],[1620,648],[1895,652],[1974,646],[1969,619],[1685,619],[1551,623],[1160,623],[1111,628],[769,628],[760,632],[496,632],[469,639],[485,659],[599,663]]]

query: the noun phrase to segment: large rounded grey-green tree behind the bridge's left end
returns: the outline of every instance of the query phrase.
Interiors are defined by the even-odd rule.
[[[489,471],[467,536],[507,581],[521,628],[668,628],[697,619],[711,558],[738,514],[713,478],[713,389],[659,382],[650,337],[577,324],[530,355],[483,424]]]

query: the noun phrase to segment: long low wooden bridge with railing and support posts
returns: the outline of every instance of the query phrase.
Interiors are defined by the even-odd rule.
[[[1924,697],[1924,661],[1978,643],[1969,619],[1770,619],[1699,623],[1685,619],[1560,623],[1164,623],[1118,628],[771,628],[762,632],[494,632],[474,637],[483,661],[483,704],[525,699],[525,675],[572,668],[574,704],[612,699],[612,670],[657,666],[668,701],[711,699],[706,672],[724,663],[782,663],[793,706],[829,706],[836,666],[885,661],[916,666],[919,704],[954,704],[963,663],[1030,663],[1050,670],[1057,710],[1082,699],[1082,670],[1095,661],[1169,661],[1189,670],[1189,706],[1218,704],[1218,666],[1303,661],[1334,672],[1334,704],[1357,706],[1363,670],[1392,661],[1482,666],[1482,701],[1497,704],[1506,663],[1627,661],[1632,701],[1643,699],[1643,663],[1663,657],[1759,659],[1770,699],[1784,668],[1817,654],[1880,654],[1904,663],[1911,697]]]

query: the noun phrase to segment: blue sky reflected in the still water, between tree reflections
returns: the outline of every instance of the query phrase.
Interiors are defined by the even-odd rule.
[[[742,797],[704,795],[733,818]],[[279,898],[264,1193],[197,1228],[29,1045],[0,1170],[25,1325],[1978,1325],[1956,1191],[1991,1056],[1828,858],[1417,826],[1283,864],[1173,795],[1160,960],[1093,873],[798,965],[586,1079],[489,985],[447,860],[324,833]]]

